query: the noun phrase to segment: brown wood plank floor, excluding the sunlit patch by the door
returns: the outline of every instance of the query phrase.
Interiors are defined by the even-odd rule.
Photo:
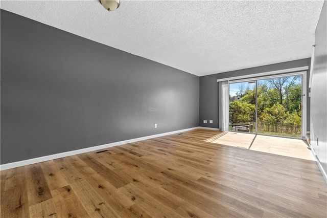
[[[196,129],[1,171],[1,217],[327,217],[314,161]]]

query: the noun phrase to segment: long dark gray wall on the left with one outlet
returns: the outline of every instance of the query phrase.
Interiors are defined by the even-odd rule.
[[[4,10],[1,74],[1,164],[198,126],[199,77]]]

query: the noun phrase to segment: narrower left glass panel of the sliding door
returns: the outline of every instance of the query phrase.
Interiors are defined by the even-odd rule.
[[[255,133],[255,81],[229,83],[229,130]]]

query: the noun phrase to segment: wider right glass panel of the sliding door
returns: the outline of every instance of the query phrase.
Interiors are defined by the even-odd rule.
[[[300,75],[258,80],[258,134],[301,137]]]

